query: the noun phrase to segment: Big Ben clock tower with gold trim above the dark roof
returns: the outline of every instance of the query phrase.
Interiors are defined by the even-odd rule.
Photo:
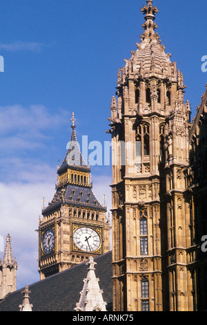
[[[90,166],[81,155],[72,114],[68,151],[57,170],[56,193],[39,220],[41,279],[110,250],[110,222],[92,192]]]

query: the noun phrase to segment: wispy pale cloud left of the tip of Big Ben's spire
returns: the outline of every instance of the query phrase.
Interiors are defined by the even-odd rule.
[[[0,149],[37,149],[68,121],[69,113],[59,110],[51,113],[42,105],[0,106]]]

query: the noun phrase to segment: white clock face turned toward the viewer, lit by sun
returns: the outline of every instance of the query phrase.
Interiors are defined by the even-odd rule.
[[[88,227],[78,228],[73,235],[73,240],[77,248],[83,252],[94,252],[101,244],[99,234]]]

